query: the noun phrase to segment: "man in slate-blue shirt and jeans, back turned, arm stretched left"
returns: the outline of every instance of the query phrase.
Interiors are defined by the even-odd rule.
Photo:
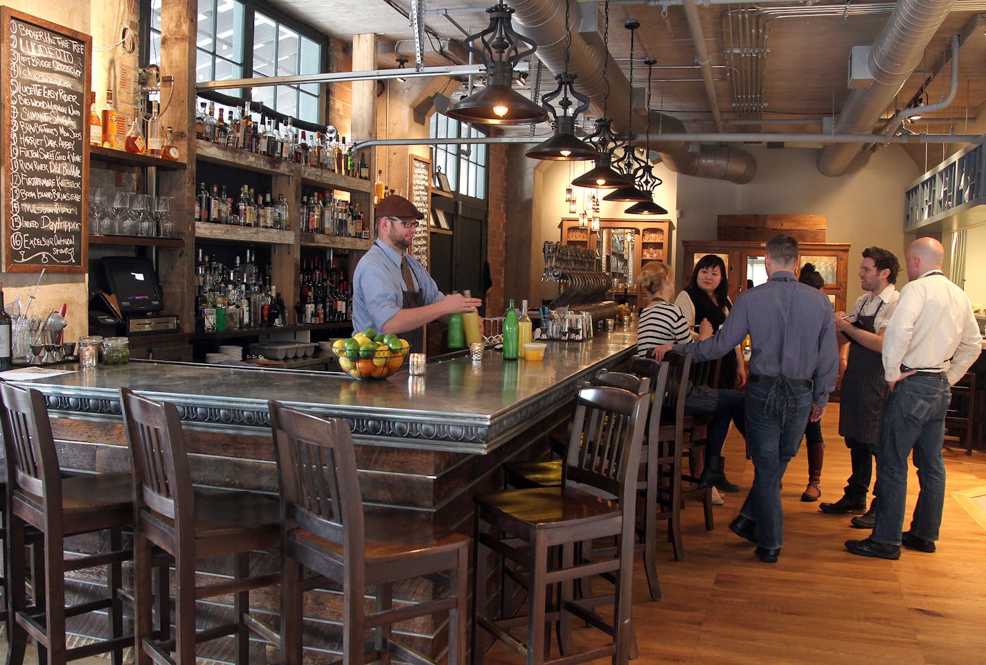
[[[798,282],[798,241],[774,236],[767,242],[765,284],[740,293],[715,335],[655,349],[691,352],[696,362],[721,358],[749,334],[746,385],[746,444],[753,484],[730,529],[756,544],[756,554],[775,563],[784,540],[780,482],[798,453],[809,418],[821,418],[839,369],[835,321],[828,296]]]

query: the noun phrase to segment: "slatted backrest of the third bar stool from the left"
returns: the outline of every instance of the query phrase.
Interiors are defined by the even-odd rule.
[[[349,425],[269,402],[281,482],[281,519],[362,553],[363,503]]]

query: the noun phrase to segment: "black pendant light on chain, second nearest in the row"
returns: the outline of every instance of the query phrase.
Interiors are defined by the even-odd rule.
[[[565,0],[565,69],[561,74],[555,76],[558,87],[541,98],[541,107],[551,116],[554,134],[551,138],[541,141],[525,153],[533,159],[551,161],[596,159],[596,150],[575,135],[575,124],[579,115],[589,109],[589,98],[575,89],[576,75],[568,71],[568,56],[572,47],[572,30],[569,27],[569,5],[571,1]],[[558,106],[561,108],[560,115],[551,105],[551,102],[556,100],[558,96],[561,96],[561,100],[558,102]],[[575,98],[579,103],[579,106],[571,114],[568,112],[572,107],[570,98]]]

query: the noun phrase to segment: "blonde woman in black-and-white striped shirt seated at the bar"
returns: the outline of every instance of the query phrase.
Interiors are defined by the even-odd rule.
[[[651,302],[640,312],[637,324],[637,355],[646,356],[662,344],[681,344],[692,340],[688,321],[677,305],[670,301],[674,295],[674,275],[663,261],[651,261],[640,269],[640,283],[650,295]],[[712,336],[711,327],[702,326],[698,339]],[[684,412],[688,415],[710,414],[705,440],[705,464],[701,480],[707,487],[736,492],[740,488],[727,480],[723,470],[723,443],[730,431],[730,421],[745,436],[744,396],[737,390],[717,390],[705,386],[690,386],[685,398]],[[713,502],[719,503],[715,491]]]

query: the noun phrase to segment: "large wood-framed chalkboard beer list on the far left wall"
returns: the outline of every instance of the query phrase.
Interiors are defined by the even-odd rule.
[[[85,272],[92,37],[0,9],[4,269]]]

